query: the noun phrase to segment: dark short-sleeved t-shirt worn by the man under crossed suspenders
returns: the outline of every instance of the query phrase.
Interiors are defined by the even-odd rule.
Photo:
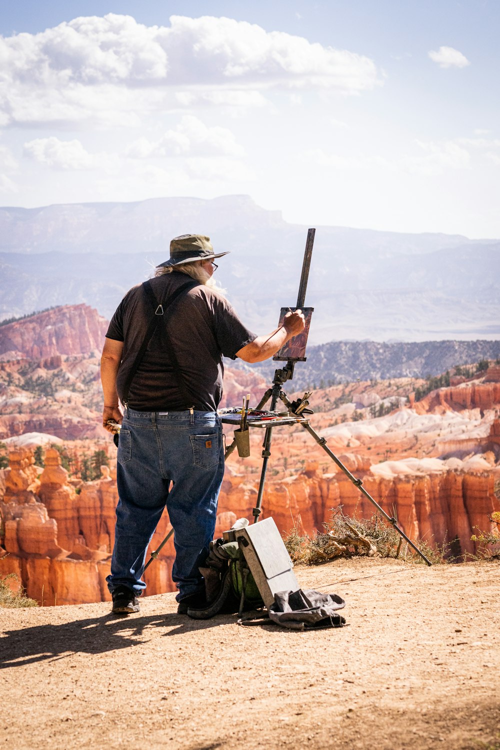
[[[160,302],[187,281],[190,277],[186,274],[172,272],[151,279],[151,287]],[[139,284],[127,292],[109,324],[106,338],[124,342],[116,379],[120,398],[152,315],[151,302]],[[178,388],[163,335],[165,325],[191,404],[184,403]],[[199,411],[215,411],[223,391],[222,357],[235,359],[236,352],[255,338],[256,335],[241,323],[235,310],[217,291],[199,285],[182,293],[169,308],[166,324],[160,317],[130,385],[129,407],[142,412],[182,411],[193,405]]]

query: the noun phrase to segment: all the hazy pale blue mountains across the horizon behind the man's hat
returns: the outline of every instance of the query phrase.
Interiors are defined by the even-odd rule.
[[[248,196],[159,198],[0,208],[0,317],[78,302],[110,317],[186,232],[231,251],[217,278],[250,328],[295,305],[307,226]],[[310,342],[500,338],[499,261],[499,240],[318,226]]]

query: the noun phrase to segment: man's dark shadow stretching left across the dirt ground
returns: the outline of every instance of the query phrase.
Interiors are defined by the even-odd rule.
[[[148,628],[169,628],[163,635],[235,624],[237,616],[220,615],[210,620],[190,619],[174,613],[149,616],[117,616],[77,619],[61,625],[34,625],[5,630],[0,636],[0,669],[21,667],[34,661],[65,658],[72,653],[105,653],[133,648],[148,640]]]

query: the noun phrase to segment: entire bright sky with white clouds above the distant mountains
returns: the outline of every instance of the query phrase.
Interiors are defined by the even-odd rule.
[[[0,0],[0,205],[500,238],[498,0]]]

